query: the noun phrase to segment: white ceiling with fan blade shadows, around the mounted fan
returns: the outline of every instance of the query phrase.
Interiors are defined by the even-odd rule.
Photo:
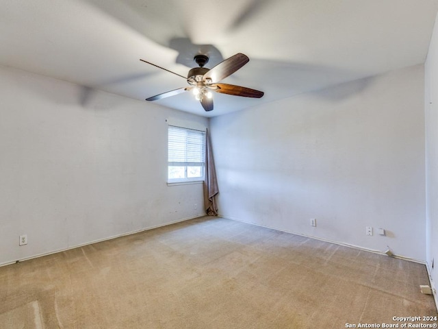
[[[211,68],[250,62],[223,82],[261,99],[190,93],[155,101],[212,117],[424,63],[438,0],[0,0],[0,64],[144,100],[187,86],[197,53]],[[146,103],[146,101],[145,101]],[[146,104],[145,104],[146,107]]]

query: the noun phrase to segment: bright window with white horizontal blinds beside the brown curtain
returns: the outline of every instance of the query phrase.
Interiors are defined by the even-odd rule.
[[[168,182],[204,180],[205,132],[168,126]]]

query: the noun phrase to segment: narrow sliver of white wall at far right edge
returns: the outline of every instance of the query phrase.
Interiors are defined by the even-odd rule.
[[[426,114],[426,260],[432,284],[438,282],[438,18],[435,21],[425,71]],[[433,266],[433,267],[432,267]],[[437,295],[435,294],[435,298]],[[438,303],[438,299],[437,299]]]

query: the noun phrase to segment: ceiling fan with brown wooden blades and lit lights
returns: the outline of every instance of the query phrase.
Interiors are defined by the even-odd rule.
[[[185,91],[192,90],[196,99],[201,102],[204,110],[211,111],[213,110],[213,95],[211,91],[242,97],[260,98],[263,96],[263,92],[259,90],[242,86],[235,86],[233,84],[219,83],[221,80],[233,74],[235,71],[244,66],[247,62],[249,62],[248,56],[244,55],[243,53],[236,53],[234,56],[231,56],[230,58],[227,58],[226,60],[223,60],[222,62],[217,64],[212,69],[207,69],[204,67],[209,60],[207,56],[196,55],[194,56],[193,60],[194,62],[196,62],[196,64],[198,64],[199,67],[194,67],[193,69],[191,69],[187,77],[169,71],[168,69],[164,69],[163,67],[155,65],[151,62],[146,62],[146,60],[140,60],[142,62],[156,66],[159,69],[163,69],[165,71],[178,75],[179,77],[183,77],[187,80],[188,84],[190,84],[190,86],[188,87],[170,90],[166,93],[146,98],[146,101],[156,101],[157,99],[163,99],[166,97],[184,93]]]

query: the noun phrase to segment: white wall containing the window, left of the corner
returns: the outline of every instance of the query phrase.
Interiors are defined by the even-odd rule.
[[[0,90],[0,264],[203,215],[166,184],[166,119],[206,118],[4,66]]]

